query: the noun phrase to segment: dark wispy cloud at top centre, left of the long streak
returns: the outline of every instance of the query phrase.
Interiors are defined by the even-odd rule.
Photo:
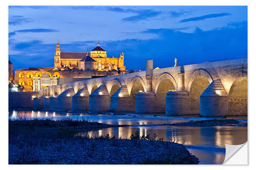
[[[153,10],[138,10],[134,16],[123,18],[123,21],[139,21],[144,20],[152,17],[156,17],[161,14],[161,12],[153,11]]]

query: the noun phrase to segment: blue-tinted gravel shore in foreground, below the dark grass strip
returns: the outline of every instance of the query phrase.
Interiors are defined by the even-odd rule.
[[[198,164],[182,144],[137,139],[9,140],[9,164]]]

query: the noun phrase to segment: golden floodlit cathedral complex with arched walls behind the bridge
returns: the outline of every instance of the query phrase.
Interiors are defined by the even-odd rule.
[[[59,42],[54,54],[54,67],[30,67],[15,70],[14,84],[23,91],[39,91],[42,88],[86,80],[102,76],[113,76],[129,72],[123,65],[123,53],[119,57],[107,57],[106,51],[97,46],[89,52],[61,52]],[[12,63],[9,60],[9,82],[12,82]]]

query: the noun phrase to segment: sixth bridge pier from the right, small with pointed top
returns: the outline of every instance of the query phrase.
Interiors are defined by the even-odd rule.
[[[85,111],[89,108],[89,91],[83,87],[72,98],[72,111]]]

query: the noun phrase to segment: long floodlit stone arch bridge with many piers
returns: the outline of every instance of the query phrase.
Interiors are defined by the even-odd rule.
[[[247,115],[247,58],[153,69],[49,86],[35,109]]]

